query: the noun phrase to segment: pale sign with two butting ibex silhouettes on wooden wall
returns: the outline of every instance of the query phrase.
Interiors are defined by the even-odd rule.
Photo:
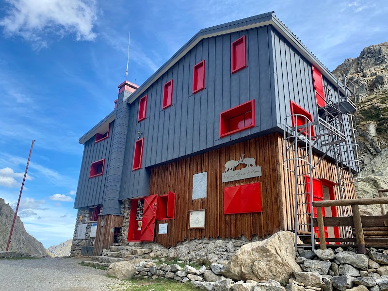
[[[244,164],[245,168],[235,170],[239,164]],[[225,163],[225,172],[222,173],[222,182],[237,181],[246,178],[261,176],[261,167],[256,165],[254,158],[245,158],[244,154],[238,161],[231,160]]]

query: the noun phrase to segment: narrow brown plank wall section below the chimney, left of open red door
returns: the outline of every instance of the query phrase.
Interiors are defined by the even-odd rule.
[[[93,256],[102,254],[104,248],[108,249],[113,244],[114,231],[111,228],[121,227],[123,225],[123,216],[119,215],[99,215],[97,220],[96,242],[94,245]]]

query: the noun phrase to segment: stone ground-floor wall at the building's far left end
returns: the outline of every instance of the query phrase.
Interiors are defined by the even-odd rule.
[[[102,207],[101,207],[102,211]],[[82,215],[82,219],[80,221],[80,216]],[[91,221],[92,211],[89,207],[84,207],[78,210],[76,224],[74,227],[73,233],[73,241],[71,242],[71,251],[70,257],[74,258],[84,258],[86,256],[81,256],[81,248],[82,246],[93,246],[95,243],[95,238],[90,237],[90,231],[92,228],[92,223],[96,223],[97,221]],[[85,239],[77,239],[77,229],[78,225],[86,224],[86,234]]]

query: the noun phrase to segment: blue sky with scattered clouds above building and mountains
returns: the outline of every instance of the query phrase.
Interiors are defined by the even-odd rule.
[[[202,28],[275,11],[330,70],[388,41],[385,1],[0,1],[0,197],[46,247],[72,238],[83,146],[125,80],[141,84]]]

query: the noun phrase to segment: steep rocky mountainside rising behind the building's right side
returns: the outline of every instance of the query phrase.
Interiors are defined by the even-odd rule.
[[[346,59],[333,74],[344,74],[355,84],[357,97],[356,128],[360,181],[358,198],[378,195],[388,188],[388,42],[363,49],[356,58]],[[379,206],[362,206],[367,215],[381,214]]]

